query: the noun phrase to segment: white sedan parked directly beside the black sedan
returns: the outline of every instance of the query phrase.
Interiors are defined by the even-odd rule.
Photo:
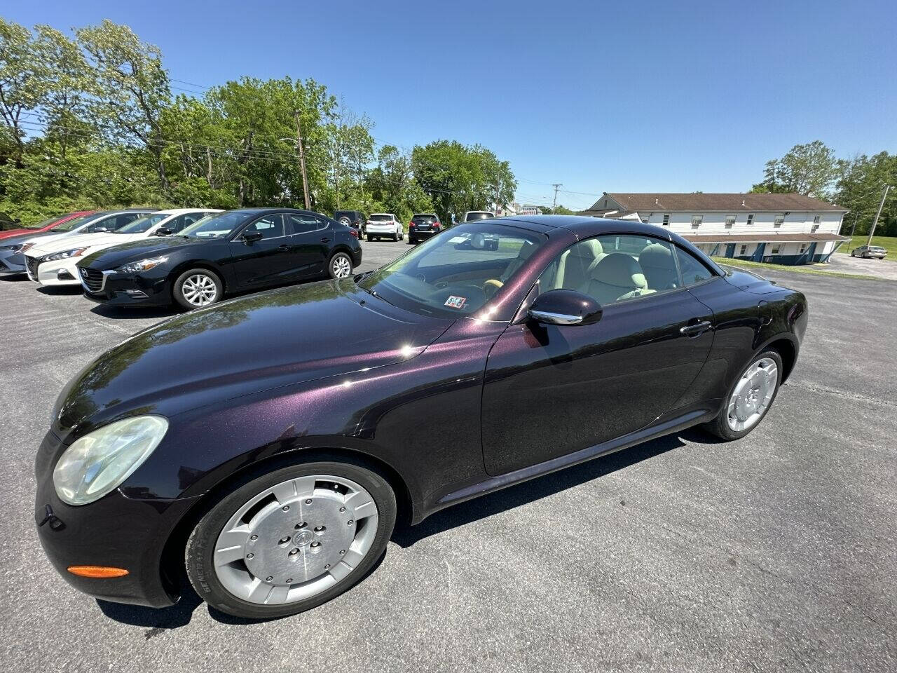
[[[25,268],[28,277],[42,285],[81,284],[77,263],[85,256],[132,240],[170,236],[207,214],[220,212],[212,208],[159,210],[145,214],[113,232],[54,237],[54,240],[46,241],[38,239],[25,250]]]

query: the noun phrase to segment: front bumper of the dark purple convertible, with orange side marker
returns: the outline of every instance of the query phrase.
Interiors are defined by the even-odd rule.
[[[98,599],[149,607],[176,603],[179,583],[165,558],[165,545],[201,496],[136,500],[116,490],[95,503],[73,507],[59,500],[53,486],[53,467],[63,450],[56,435],[47,433],[35,463],[35,524],[50,563],[75,589]],[[53,514],[49,520],[48,506]],[[125,568],[128,574],[81,577],[68,572],[71,565],[108,565]]]

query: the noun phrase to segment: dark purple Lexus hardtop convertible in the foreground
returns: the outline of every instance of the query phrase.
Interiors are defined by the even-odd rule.
[[[360,581],[398,517],[696,424],[744,437],[797,360],[801,293],[659,227],[538,216],[451,234],[100,355],[37,456],[57,571],[154,607],[186,572],[233,615],[300,612]]]

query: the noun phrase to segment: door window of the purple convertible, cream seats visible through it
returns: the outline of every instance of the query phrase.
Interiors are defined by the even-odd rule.
[[[575,290],[602,305],[680,287],[673,248],[648,236],[605,235],[580,240],[553,260],[539,291]]]

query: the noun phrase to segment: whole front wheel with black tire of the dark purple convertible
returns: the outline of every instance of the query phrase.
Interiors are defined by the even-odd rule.
[[[199,520],[185,549],[187,577],[200,598],[229,615],[294,615],[360,581],[395,524],[396,495],[361,464],[276,469]]]

